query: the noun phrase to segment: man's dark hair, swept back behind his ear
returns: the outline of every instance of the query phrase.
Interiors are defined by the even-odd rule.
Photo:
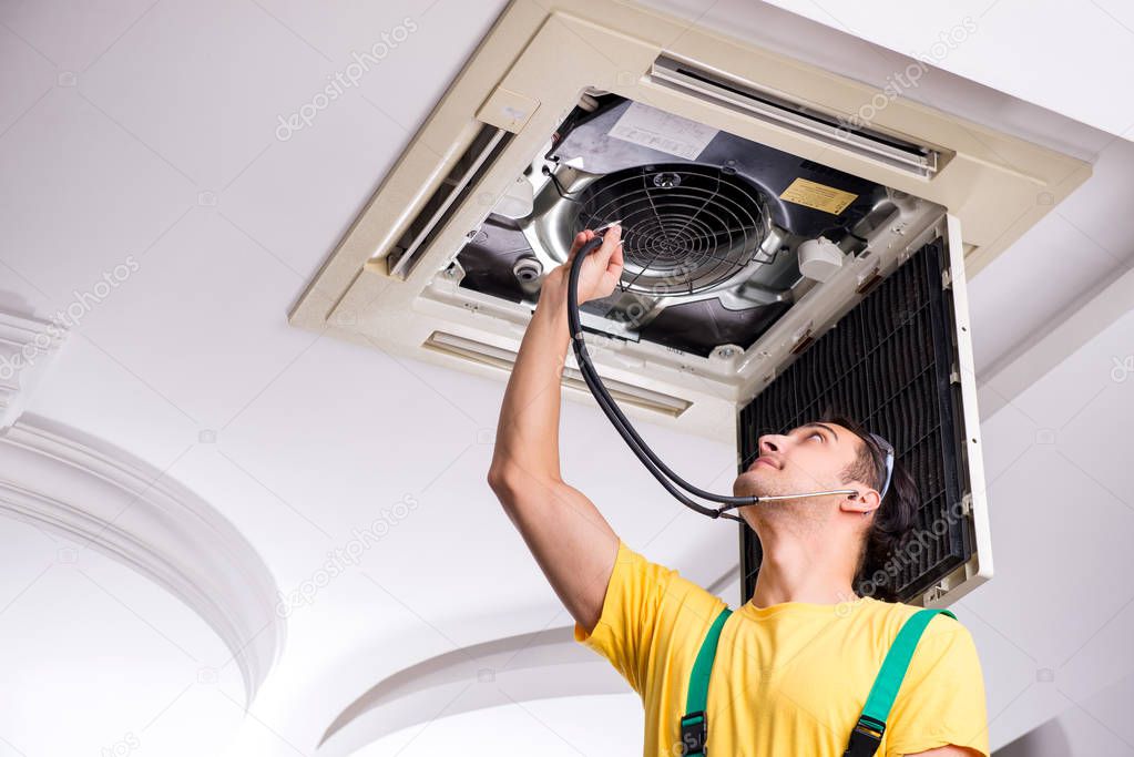
[[[854,462],[843,470],[843,480],[861,480],[871,484],[879,493],[886,484],[886,452],[870,437],[870,431],[845,412],[828,408],[820,420],[835,423],[853,432],[860,440],[858,454]],[[891,442],[892,443],[892,442]],[[897,555],[913,535],[917,519],[917,485],[906,467],[899,462],[895,450],[890,488],[878,505],[871,526],[863,536],[855,564],[854,586],[860,595],[896,602],[895,577],[885,570],[889,560]],[[878,573],[881,581],[872,580]]]

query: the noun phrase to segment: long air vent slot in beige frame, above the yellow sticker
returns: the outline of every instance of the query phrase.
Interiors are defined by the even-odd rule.
[[[780,94],[697,68],[670,56],[654,60],[650,80],[907,173],[932,178],[943,167],[942,153],[933,147],[878,129],[840,122],[833,114],[818,112]]]

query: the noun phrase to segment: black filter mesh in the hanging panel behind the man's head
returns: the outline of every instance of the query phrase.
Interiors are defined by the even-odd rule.
[[[784,434],[833,409],[894,445],[917,485],[914,538],[883,564],[868,564],[856,590],[907,602],[972,555],[972,521],[958,503],[970,490],[959,419],[951,290],[941,286],[938,239],[912,255],[838,324],[815,340],[739,415],[739,471],[762,434]],[[892,484],[891,484],[892,486]],[[888,495],[889,496],[889,495]],[[914,541],[921,546],[914,546]],[[755,589],[762,552],[741,534],[742,602]]]

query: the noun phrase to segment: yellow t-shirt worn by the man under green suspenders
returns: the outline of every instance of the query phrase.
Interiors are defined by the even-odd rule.
[[[689,672],[726,603],[619,541],[593,631],[575,640],[642,697],[646,757],[682,754]],[[709,682],[710,755],[841,757],[902,624],[920,607],[863,597],[838,605],[745,603],[725,622]],[[954,743],[989,755],[984,680],[972,636],[934,615],[887,717],[878,757]]]

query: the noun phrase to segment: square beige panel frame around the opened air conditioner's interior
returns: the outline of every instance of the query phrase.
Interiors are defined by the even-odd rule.
[[[515,350],[530,311],[459,290],[438,272],[587,86],[907,192],[926,201],[926,207],[939,205],[965,229],[968,275],[1090,176],[1090,165],[1082,161],[898,99],[875,113],[872,126],[948,154],[936,176],[917,177],[651,82],[650,68],[662,52],[835,116],[852,117],[877,94],[831,71],[634,3],[515,0],[303,294],[290,322],[417,359],[506,377],[502,371],[459,364],[423,349],[422,343],[441,329]],[[405,280],[391,278],[384,260],[391,246],[482,122],[511,131],[510,144],[413,272]],[[832,281],[814,287],[760,342],[733,359],[674,356],[642,342],[598,350],[598,367],[604,376],[692,401],[676,418],[627,408],[632,417],[731,442],[737,405],[782,369],[802,334],[810,331],[818,337],[849,309],[858,283],[874,272],[892,271],[909,254],[909,239],[940,218],[931,215],[883,235],[870,257],[848,262]],[[593,401],[585,392],[567,395]]]

